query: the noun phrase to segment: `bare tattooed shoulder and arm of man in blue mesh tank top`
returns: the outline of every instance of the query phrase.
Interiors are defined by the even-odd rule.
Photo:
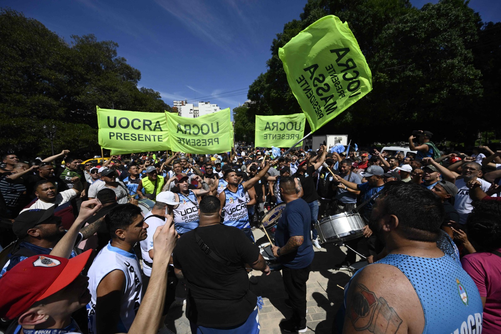
[[[419,298],[398,268],[371,264],[350,281],[343,333],[421,333],[423,328]]]

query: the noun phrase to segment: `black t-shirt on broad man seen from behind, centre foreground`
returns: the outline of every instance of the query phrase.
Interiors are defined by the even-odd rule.
[[[231,262],[226,266],[198,246],[195,231],[218,256]],[[184,233],[173,252],[174,267],[186,279],[186,316],[198,325],[228,327],[242,323],[256,307],[257,296],[250,292],[245,263],[254,263],[259,247],[236,227],[209,225]]]

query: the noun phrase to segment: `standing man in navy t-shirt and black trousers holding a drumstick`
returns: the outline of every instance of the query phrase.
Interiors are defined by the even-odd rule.
[[[286,305],[293,310],[292,317],[282,321],[280,328],[287,332],[305,332],[306,282],[315,254],[310,238],[310,206],[298,196],[296,182],[292,177],[283,177],[280,180],[280,192],[287,205],[277,224],[277,246],[273,246],[273,254],[284,266],[282,278],[289,294]]]

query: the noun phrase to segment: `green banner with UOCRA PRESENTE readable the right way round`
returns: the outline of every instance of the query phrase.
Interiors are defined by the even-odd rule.
[[[97,107],[99,145],[123,152],[165,151],[168,147],[164,113],[142,113]]]

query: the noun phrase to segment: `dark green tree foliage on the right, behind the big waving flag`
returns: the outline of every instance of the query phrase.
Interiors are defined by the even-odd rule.
[[[301,112],[278,49],[326,15],[348,22],[372,71],[373,91],[319,134],[347,133],[370,144],[406,140],[412,130],[422,129],[437,139],[462,142],[495,126],[472,121],[471,115],[493,107],[484,92],[492,97],[499,92],[494,81],[501,69],[499,23],[482,28],[478,14],[463,0],[441,0],[421,10],[407,0],[309,0],[301,20],[277,34],[268,71],[250,85],[248,99],[254,104],[248,122],[255,115]]]

